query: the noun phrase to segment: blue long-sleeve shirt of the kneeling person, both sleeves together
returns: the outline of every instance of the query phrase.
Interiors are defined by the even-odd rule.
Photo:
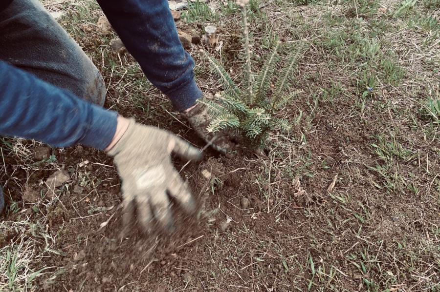
[[[178,39],[167,0],[98,3],[147,78],[177,110],[202,96],[194,80],[194,61]],[[104,149],[116,131],[116,117],[115,112],[0,61],[0,135],[58,147],[84,144]]]

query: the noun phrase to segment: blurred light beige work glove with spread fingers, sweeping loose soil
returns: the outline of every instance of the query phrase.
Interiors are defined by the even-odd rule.
[[[195,206],[191,193],[171,163],[170,154],[199,160],[201,152],[168,131],[136,123],[131,119],[127,131],[110,149],[122,180],[124,223],[130,224],[134,205],[140,222],[148,231],[154,217],[163,228],[173,229],[168,195],[189,213]]]

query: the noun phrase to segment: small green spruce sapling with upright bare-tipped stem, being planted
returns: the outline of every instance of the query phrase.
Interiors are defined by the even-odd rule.
[[[221,94],[216,94],[214,100],[202,99],[199,102],[207,106],[213,119],[207,127],[208,132],[215,133],[224,129],[239,131],[252,146],[264,147],[264,142],[273,130],[288,131],[289,122],[286,119],[276,118],[278,111],[294,98],[300,91],[286,94],[291,81],[292,73],[299,57],[304,51],[304,41],[290,54],[285,67],[277,72],[277,63],[281,57],[278,49],[281,46],[275,41],[271,53],[264,60],[263,67],[257,77],[253,78],[251,70],[252,46],[249,42],[247,22],[247,4],[249,0],[237,0],[242,12],[244,75],[246,84],[241,90],[237,86],[223,65],[205,51],[205,58],[209,61],[213,73],[220,79],[223,87]],[[275,81],[275,87],[271,84]]]

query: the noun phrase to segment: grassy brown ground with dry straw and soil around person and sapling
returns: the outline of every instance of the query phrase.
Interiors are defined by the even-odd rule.
[[[204,146],[133,58],[110,50],[116,35],[97,30],[94,1],[43,3],[101,70],[106,107]],[[1,291],[440,291],[440,111],[429,109],[440,98],[439,1],[251,3],[257,68],[275,36],[309,43],[292,85],[303,93],[280,113],[292,130],[271,134],[266,158],[208,152],[186,166],[197,220],[176,208],[174,236],[134,227],[123,240],[109,157],[77,146],[36,161],[37,142],[1,138]],[[201,36],[214,23],[212,54],[242,82],[240,14],[212,4],[177,27]],[[214,94],[202,47],[189,51]],[[71,179],[47,192],[60,169]]]

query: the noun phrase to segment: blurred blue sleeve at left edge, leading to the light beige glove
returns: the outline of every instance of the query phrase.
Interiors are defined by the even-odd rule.
[[[0,135],[105,149],[117,114],[0,61]]]

